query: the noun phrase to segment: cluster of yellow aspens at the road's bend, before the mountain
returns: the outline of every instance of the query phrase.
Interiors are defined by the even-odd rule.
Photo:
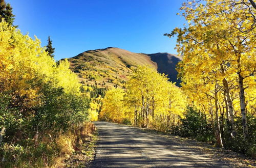
[[[112,89],[103,99],[100,119],[160,129],[183,118],[186,97],[164,74],[139,66],[126,83],[126,90]],[[172,120],[171,120],[172,119]],[[157,126],[158,125],[158,126]]]

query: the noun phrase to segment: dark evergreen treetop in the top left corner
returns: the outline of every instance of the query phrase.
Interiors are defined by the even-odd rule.
[[[13,25],[14,17],[11,5],[6,4],[4,0],[0,0],[0,19],[4,19],[9,25]]]

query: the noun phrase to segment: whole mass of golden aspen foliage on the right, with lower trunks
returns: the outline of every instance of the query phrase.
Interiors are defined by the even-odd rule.
[[[203,2],[203,3],[202,3]],[[188,24],[176,28],[177,50],[184,55],[178,65],[182,89],[191,102],[211,119],[221,143],[219,116],[231,123],[241,114],[248,139],[247,113],[255,116],[256,22],[255,8],[245,1],[205,0],[183,3]]]

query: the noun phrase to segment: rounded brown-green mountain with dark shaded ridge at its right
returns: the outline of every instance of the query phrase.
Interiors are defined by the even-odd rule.
[[[123,86],[132,69],[148,65],[167,74],[170,81],[177,82],[176,65],[182,58],[170,53],[134,53],[121,48],[108,47],[88,50],[68,59],[70,69],[78,74],[84,84],[100,88]]]

